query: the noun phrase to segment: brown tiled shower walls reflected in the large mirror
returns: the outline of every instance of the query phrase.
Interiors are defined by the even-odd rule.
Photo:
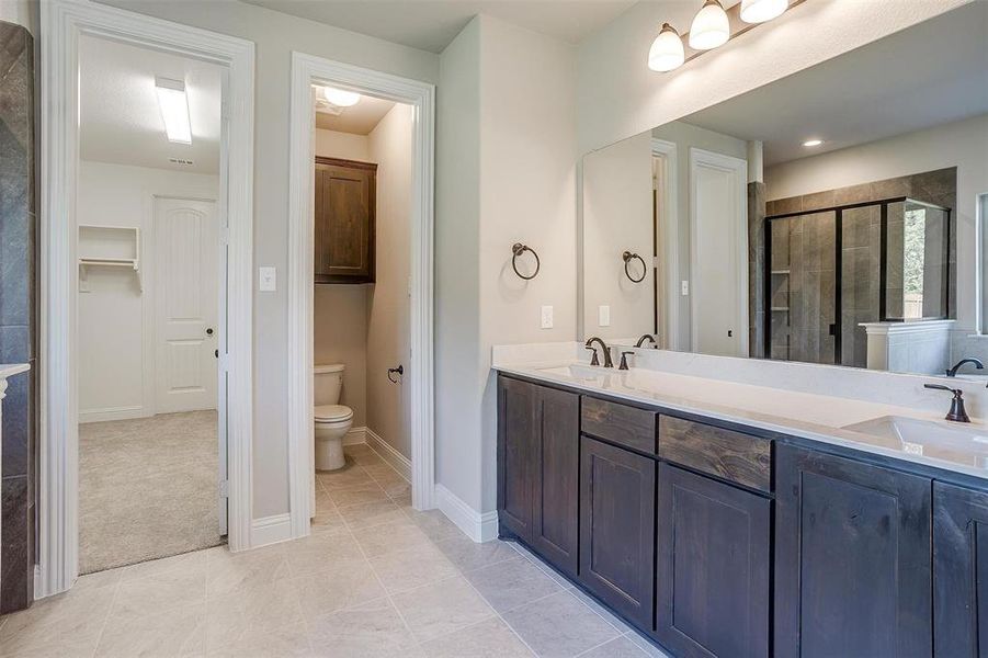
[[[862,183],[837,190],[816,192],[802,196],[792,196],[765,202],[768,216],[788,213],[806,213],[787,220],[776,220],[777,230],[786,235],[773,232],[773,251],[775,246],[785,240],[790,250],[783,253],[788,258],[785,263],[773,263],[772,269],[779,272],[772,275],[772,290],[780,293],[780,299],[786,294],[788,303],[780,299],[769,300],[768,308],[763,283],[749,276],[749,295],[754,299],[750,304],[756,310],[769,314],[773,322],[772,356],[797,361],[833,362],[832,338],[829,337],[829,324],[834,321],[827,317],[828,308],[832,313],[834,276],[832,266],[820,260],[824,251],[833,252],[833,213],[815,213],[834,206],[909,196],[949,208],[956,207],[957,170],[941,169],[883,181]],[[749,189],[749,206],[753,201]],[[810,226],[822,220],[819,226]],[[951,220],[956,222],[952,216]],[[827,225],[827,226],[825,226]],[[750,226],[750,225],[749,225]],[[845,365],[864,367],[866,363],[867,339],[860,322],[878,319],[878,207],[847,209],[843,214],[841,259],[841,362]],[[820,228],[824,230],[814,230]],[[890,225],[890,230],[895,227]],[[773,228],[773,231],[776,230]],[[809,232],[808,232],[809,231]],[[751,231],[749,242],[751,258],[764,252],[764,230]],[[764,258],[764,257],[763,257]],[[804,266],[804,259],[806,266]],[[949,280],[949,317],[956,317],[956,230],[952,226],[950,245],[950,280]],[[754,266],[750,263],[750,266]],[[776,266],[777,265],[777,266]],[[763,268],[761,262],[758,266]],[[806,268],[809,268],[808,270]],[[806,270],[806,271],[804,271]],[[750,271],[750,270],[749,270]],[[763,271],[763,270],[762,270]],[[786,272],[792,272],[786,274]],[[774,295],[773,295],[774,296]],[[771,308],[779,310],[772,311]],[[753,314],[757,316],[757,314]],[[758,317],[758,316],[757,316]],[[763,317],[763,316],[762,316]],[[788,319],[788,322],[786,320]],[[782,325],[786,325],[783,327]],[[756,332],[751,331],[751,336]],[[777,344],[776,344],[777,343]],[[759,352],[752,350],[752,354]]]

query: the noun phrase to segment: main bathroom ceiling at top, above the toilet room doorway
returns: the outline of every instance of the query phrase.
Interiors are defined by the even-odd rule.
[[[242,1],[432,53],[441,53],[478,13],[577,43],[635,4],[633,0]]]

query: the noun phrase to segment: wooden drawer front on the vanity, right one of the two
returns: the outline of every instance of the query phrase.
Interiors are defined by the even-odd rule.
[[[772,442],[768,439],[660,416],[659,456],[746,487],[772,490]]]

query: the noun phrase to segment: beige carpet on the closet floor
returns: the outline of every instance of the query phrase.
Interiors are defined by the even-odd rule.
[[[216,411],[79,426],[79,572],[220,544]]]

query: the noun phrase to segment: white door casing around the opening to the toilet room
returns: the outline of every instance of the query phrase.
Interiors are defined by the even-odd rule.
[[[407,104],[411,114],[408,354],[402,386],[408,401],[411,504],[434,507],[432,194],[434,97],[432,84],[293,53],[288,260],[289,508],[292,536],[309,534],[314,498],[314,247],[313,86]],[[395,366],[391,364],[389,367]],[[394,377],[395,374],[393,373]],[[344,384],[345,386],[345,384]]]

